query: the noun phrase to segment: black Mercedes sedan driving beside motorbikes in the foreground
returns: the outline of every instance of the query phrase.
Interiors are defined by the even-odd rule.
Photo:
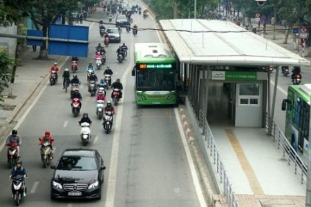
[[[50,198],[101,199],[104,161],[94,149],[67,149],[50,181]]]

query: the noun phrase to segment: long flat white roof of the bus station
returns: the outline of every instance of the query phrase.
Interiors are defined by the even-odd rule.
[[[182,63],[310,66],[307,59],[229,21],[167,19],[160,26]]]

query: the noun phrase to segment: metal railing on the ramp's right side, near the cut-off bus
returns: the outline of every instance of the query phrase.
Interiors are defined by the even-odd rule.
[[[276,144],[276,147],[282,153],[283,157],[287,159],[288,166],[294,170],[294,173],[298,175],[301,184],[306,184],[307,175],[308,175],[308,168],[303,162],[303,160],[299,157],[298,153],[292,145],[290,141],[285,137],[281,129],[276,126],[275,122],[270,119],[270,117],[266,113],[266,123],[271,123],[272,130],[269,130],[270,124],[265,124],[266,132],[271,131],[272,141]]]

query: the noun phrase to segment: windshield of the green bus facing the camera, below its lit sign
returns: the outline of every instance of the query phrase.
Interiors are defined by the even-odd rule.
[[[137,70],[137,90],[176,90],[173,70]]]

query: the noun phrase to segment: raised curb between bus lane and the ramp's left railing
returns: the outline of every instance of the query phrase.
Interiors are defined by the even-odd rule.
[[[189,119],[187,117],[187,112],[179,108],[179,117],[182,123],[182,127],[185,130],[185,135],[187,136],[187,143],[189,144],[195,159],[196,167],[198,168],[198,175],[200,176],[200,181],[202,184],[202,188],[205,192],[205,198],[207,200],[208,206],[219,206],[219,198],[214,195],[214,192],[209,184],[209,179],[207,177],[207,173],[205,171],[205,163],[200,157],[199,149],[196,147],[194,143],[194,132],[191,130],[191,126],[189,125]]]

